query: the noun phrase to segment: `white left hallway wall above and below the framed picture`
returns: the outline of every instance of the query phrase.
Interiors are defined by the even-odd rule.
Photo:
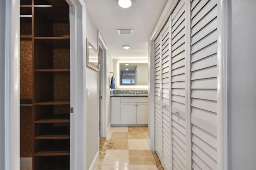
[[[86,10],[86,37],[97,48],[97,29]],[[86,67],[86,66],[85,66]],[[90,89],[90,98],[87,99],[87,134],[86,134],[86,169],[90,169],[98,152],[98,71],[86,68],[86,87]]]

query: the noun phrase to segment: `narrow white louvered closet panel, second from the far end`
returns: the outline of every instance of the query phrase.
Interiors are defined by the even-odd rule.
[[[171,169],[171,116],[170,116],[170,27],[169,22],[164,26],[161,35],[162,41],[162,166]]]

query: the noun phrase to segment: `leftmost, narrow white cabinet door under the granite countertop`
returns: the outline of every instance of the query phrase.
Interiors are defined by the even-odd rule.
[[[111,124],[120,124],[120,97],[111,98]]]

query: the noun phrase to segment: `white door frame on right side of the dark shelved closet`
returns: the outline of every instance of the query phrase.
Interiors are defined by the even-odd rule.
[[[86,7],[83,0],[70,6],[70,169],[86,169]]]

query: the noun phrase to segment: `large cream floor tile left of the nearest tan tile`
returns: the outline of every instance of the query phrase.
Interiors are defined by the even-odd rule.
[[[129,164],[128,150],[107,150],[102,164]]]

